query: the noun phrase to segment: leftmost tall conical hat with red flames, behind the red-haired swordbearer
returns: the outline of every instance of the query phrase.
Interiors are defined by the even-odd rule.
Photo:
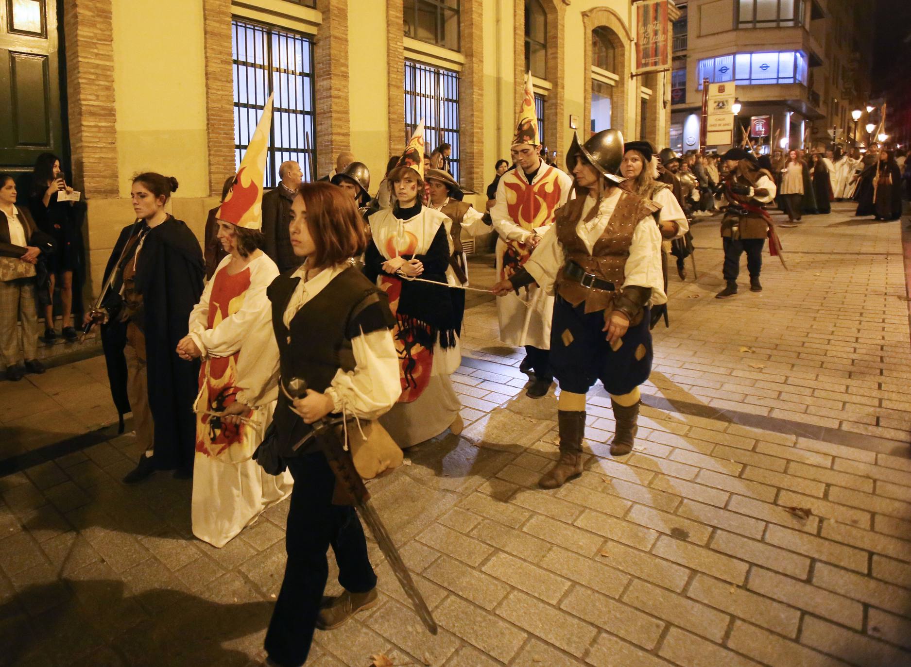
[[[262,109],[260,122],[250,137],[241,167],[234,177],[228,197],[221,203],[216,217],[246,229],[262,227],[262,184],[266,176],[266,153],[272,123],[272,96]]]

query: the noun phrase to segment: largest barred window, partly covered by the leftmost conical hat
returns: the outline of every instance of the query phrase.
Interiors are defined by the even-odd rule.
[[[307,0],[300,4],[306,5]],[[311,164],[316,164],[316,139],[312,38],[248,21],[232,21],[231,29],[236,164],[240,167],[266,100],[274,92],[263,185],[278,185],[278,167],[285,160],[300,163],[304,180],[313,180]],[[308,134],[310,147],[305,147]]]

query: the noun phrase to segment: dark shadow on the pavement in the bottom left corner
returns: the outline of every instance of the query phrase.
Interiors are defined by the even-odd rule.
[[[0,605],[0,665],[245,665],[247,651],[221,643],[257,652],[273,603],[234,603],[234,594],[226,587],[214,600],[169,589],[131,595],[122,581],[107,580],[32,585]],[[45,609],[49,601],[56,604]]]

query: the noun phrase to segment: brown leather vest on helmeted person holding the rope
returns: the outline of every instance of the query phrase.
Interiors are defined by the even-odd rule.
[[[612,282],[615,288],[614,291],[608,291],[585,287],[575,280],[565,278],[561,267],[557,274],[558,295],[573,306],[585,301],[586,313],[609,308],[614,294],[623,285],[633,232],[643,217],[650,217],[657,210],[659,207],[650,199],[622,190],[608,225],[595,242],[591,254],[576,233],[578,219],[568,219],[570,216],[558,214],[555,223],[557,238],[563,246],[566,261],[575,262],[586,273]]]

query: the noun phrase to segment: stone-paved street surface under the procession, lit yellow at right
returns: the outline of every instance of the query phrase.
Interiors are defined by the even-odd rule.
[[[610,457],[593,391],[587,470],[556,491],[535,488],[556,400],[525,398],[521,355],[473,296],[455,376],[470,423],[371,483],[440,633],[372,545],[382,603],[318,632],[308,664],[911,663],[899,224],[805,217],[782,230],[791,270],[766,255],[763,293],[724,301],[717,219],[694,233],[701,274],[672,279],[636,449]],[[0,478],[0,664],[260,657],[287,503],[215,550],[190,537],[188,481],[118,482],[137,455],[126,435]]]

